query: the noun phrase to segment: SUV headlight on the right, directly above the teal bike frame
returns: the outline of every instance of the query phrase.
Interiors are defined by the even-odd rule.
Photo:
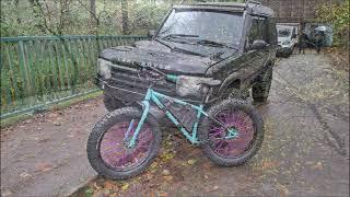
[[[180,96],[200,97],[200,95],[202,95],[203,93],[200,91],[201,83],[211,84],[212,81],[218,82],[218,80],[214,80],[212,78],[178,76],[176,80],[176,93]]]

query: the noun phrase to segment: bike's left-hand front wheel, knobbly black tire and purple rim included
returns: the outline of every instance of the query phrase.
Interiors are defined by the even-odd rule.
[[[129,148],[141,111],[124,107],[108,113],[93,128],[88,139],[88,158],[92,167],[112,179],[126,179],[142,173],[158,154],[161,131],[153,117],[148,117],[136,144]]]

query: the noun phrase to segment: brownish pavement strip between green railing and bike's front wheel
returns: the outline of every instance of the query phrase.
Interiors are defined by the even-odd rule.
[[[85,143],[101,101],[37,115],[1,131],[3,196],[67,196],[95,175]]]

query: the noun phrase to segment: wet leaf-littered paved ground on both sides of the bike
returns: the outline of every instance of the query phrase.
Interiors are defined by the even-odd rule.
[[[266,137],[250,162],[218,167],[200,149],[172,136],[152,170],[128,182],[113,182],[115,187],[109,184],[107,188],[125,196],[141,190],[349,196],[348,77],[323,55],[281,59],[275,68],[269,102],[257,106],[265,119]],[[86,161],[85,141],[105,113],[100,100],[90,101],[2,130],[2,194],[65,196],[94,176]],[[196,163],[189,165],[188,160]],[[171,175],[162,176],[164,170]],[[107,182],[100,179],[98,184],[107,186]]]

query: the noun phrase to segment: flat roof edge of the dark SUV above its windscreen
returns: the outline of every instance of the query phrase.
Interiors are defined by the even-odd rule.
[[[188,3],[188,4],[176,4],[175,9],[205,9],[205,10],[221,10],[229,12],[244,12],[247,11],[252,15],[261,15],[273,18],[273,10],[264,7],[258,2],[253,3],[234,3],[234,2],[201,2],[201,3]]]

